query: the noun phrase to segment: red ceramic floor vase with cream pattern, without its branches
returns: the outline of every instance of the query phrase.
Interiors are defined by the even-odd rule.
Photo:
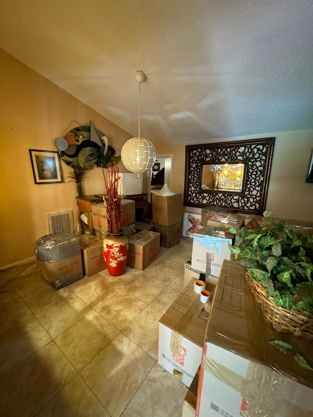
[[[108,233],[103,239],[103,256],[112,277],[118,277],[125,272],[128,251],[128,239],[123,233]]]

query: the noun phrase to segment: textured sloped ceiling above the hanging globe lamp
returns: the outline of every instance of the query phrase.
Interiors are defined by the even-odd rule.
[[[5,4],[4,4],[5,3]],[[313,129],[312,0],[7,0],[0,46],[134,136]]]

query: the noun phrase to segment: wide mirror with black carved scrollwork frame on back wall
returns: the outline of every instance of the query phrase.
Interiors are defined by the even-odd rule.
[[[188,145],[184,205],[262,215],[275,138]]]

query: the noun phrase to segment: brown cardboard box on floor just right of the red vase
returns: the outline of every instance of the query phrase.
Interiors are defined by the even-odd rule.
[[[160,234],[142,230],[129,238],[128,244],[127,265],[143,270],[160,251]]]

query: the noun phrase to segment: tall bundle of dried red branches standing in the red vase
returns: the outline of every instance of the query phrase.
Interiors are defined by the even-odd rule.
[[[118,168],[108,167],[108,182],[102,167],[104,183],[106,185],[107,196],[104,203],[107,206],[108,233],[117,234],[122,232],[121,204],[122,196],[118,195]]]

